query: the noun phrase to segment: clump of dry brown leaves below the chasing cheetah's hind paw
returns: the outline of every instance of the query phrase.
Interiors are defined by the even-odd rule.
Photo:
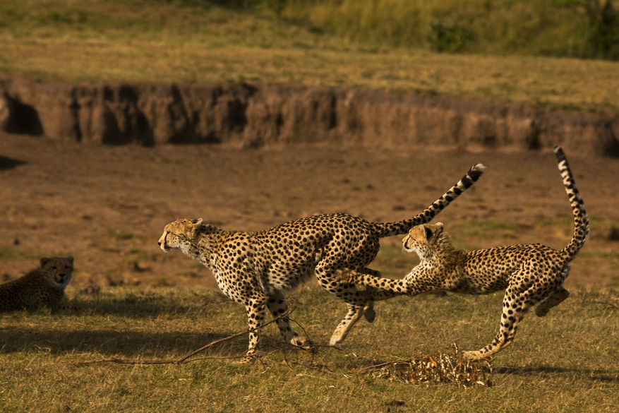
[[[445,383],[458,387],[491,387],[491,361],[467,361],[459,355],[458,347],[452,344],[453,354],[435,352],[421,359],[389,361],[366,368],[374,378],[387,378],[407,384]]]

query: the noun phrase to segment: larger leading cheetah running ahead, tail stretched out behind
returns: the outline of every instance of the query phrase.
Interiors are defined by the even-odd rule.
[[[203,220],[181,219],[169,223],[159,239],[165,252],[178,249],[209,268],[222,292],[243,304],[248,316],[249,346],[243,362],[260,357],[258,342],[265,307],[274,318],[286,313],[284,293],[318,278],[319,284],[347,305],[348,313],[337,326],[330,345],[339,347],[349,329],[361,316],[372,322],[374,294],[342,285],[332,275],[340,268],[380,275],[367,268],[379,249],[378,239],[406,234],[409,229],[432,220],[443,208],[474,184],[485,171],[476,164],[447,193],[423,213],[398,222],[368,222],[343,213],[313,215],[260,232],[224,231]],[[313,344],[294,332],[288,318],[280,317],[277,327],[286,342],[313,349]]]

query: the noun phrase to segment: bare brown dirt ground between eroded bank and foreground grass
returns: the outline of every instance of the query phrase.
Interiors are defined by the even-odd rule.
[[[619,160],[565,152],[593,230],[567,285],[619,282]],[[316,213],[373,221],[411,217],[477,162],[488,172],[435,221],[492,220],[522,229],[508,241],[451,232],[476,248],[541,242],[562,248],[572,213],[555,157],[546,152],[378,150],[289,145],[259,150],[218,145],[102,146],[0,134],[0,277],[23,275],[41,256],[76,258],[71,291],[134,284],[215,287],[208,270],[157,246],[164,225],[198,218],[253,231]],[[471,221],[472,220],[472,221]],[[553,221],[554,222],[554,221]],[[535,224],[535,225],[534,225]],[[385,239],[398,246],[402,237]],[[412,256],[413,254],[411,254]],[[411,257],[411,267],[414,257]],[[384,268],[375,268],[385,270]],[[404,274],[385,275],[399,277]],[[0,280],[1,281],[1,280]],[[72,289],[71,289],[72,288]]]

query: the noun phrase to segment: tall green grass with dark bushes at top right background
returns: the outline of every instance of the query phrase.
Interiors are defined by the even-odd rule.
[[[423,47],[443,52],[615,56],[616,40],[585,1],[383,0],[282,1],[280,16],[377,48]],[[606,2],[605,2],[606,3]],[[587,8],[589,6],[589,8]],[[611,4],[612,6],[612,4]],[[615,4],[616,6],[616,4]],[[616,11],[607,16],[616,18]],[[593,18],[593,20],[592,20]],[[599,23],[598,23],[599,24]],[[612,25],[610,21],[605,28]],[[597,30],[597,31],[596,31]],[[603,29],[602,29],[603,30]],[[602,53],[600,53],[602,52]]]

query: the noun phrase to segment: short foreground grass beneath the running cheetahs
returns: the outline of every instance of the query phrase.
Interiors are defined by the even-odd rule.
[[[324,345],[344,306],[315,285],[292,297],[292,318]],[[315,356],[282,344],[270,325],[264,357],[252,366],[208,359],[75,364],[178,359],[245,328],[244,310],[218,292],[112,288],[72,299],[76,309],[0,316],[0,402],[4,412],[612,412],[619,402],[616,297],[614,289],[574,291],[546,318],[525,318],[514,344],[493,360],[493,387],[464,389],[359,372],[449,352],[452,342],[460,349],[485,345],[498,328],[501,294],[383,301],[375,323],[360,321],[341,351],[320,347]],[[245,347],[240,337],[203,355],[236,355]]]

